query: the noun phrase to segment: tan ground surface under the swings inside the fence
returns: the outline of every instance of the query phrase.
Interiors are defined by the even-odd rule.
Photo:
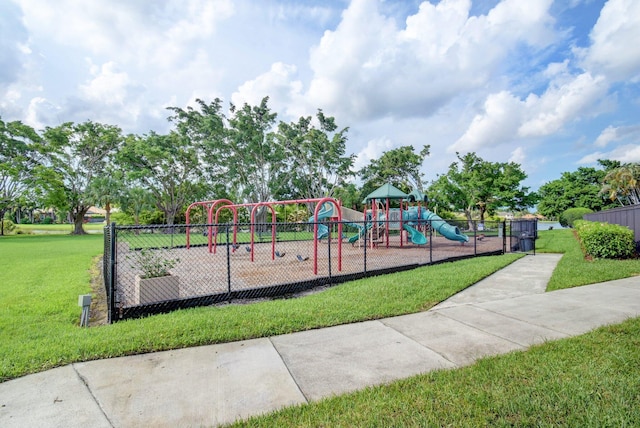
[[[255,289],[281,284],[314,280],[319,277],[347,275],[395,268],[413,264],[428,264],[460,256],[491,253],[502,250],[503,240],[500,237],[484,237],[475,240],[471,237],[468,243],[450,241],[435,236],[430,243],[423,246],[413,244],[399,245],[399,238],[391,238],[389,246],[378,244],[375,248],[342,244],[342,266],[338,263],[338,243],[332,241],[331,248],[327,242],[318,244],[318,274],[314,274],[314,247],[310,241],[277,242],[275,251],[281,257],[272,260],[271,243],[254,245],[253,261],[250,247],[240,244],[235,251],[229,248],[227,263],[227,246],[218,245],[216,252],[210,253],[206,246],[173,248],[162,250],[167,258],[178,258],[180,262],[171,269],[174,276],[179,277],[180,298],[192,298],[211,294],[225,293],[229,289],[229,272],[231,290]],[[329,252],[331,253],[329,255]],[[300,261],[298,256],[303,259]],[[117,295],[123,307],[138,304],[135,292],[135,268],[126,254],[118,255]]]

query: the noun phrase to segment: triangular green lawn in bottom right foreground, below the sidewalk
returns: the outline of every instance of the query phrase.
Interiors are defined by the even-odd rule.
[[[640,318],[285,408],[243,427],[637,427]]]

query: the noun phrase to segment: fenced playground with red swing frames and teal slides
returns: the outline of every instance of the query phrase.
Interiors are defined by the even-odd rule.
[[[391,207],[391,202],[395,207]],[[504,224],[448,223],[426,207],[418,192],[405,194],[385,185],[365,200],[363,212],[333,198],[234,204],[199,201],[186,212],[187,224],[167,227],[120,227],[114,248],[114,316],[151,310],[260,297],[277,297],[445,260],[500,254]],[[306,204],[313,215],[297,223],[277,222],[276,206]],[[191,224],[194,209],[206,223]],[[250,212],[239,223],[239,210]],[[221,223],[221,214],[232,221]],[[260,217],[260,218],[259,218]],[[466,233],[462,230],[466,227]],[[151,291],[141,291],[142,249],[171,265]],[[160,262],[163,263],[163,262]],[[169,284],[169,279],[171,283]],[[164,281],[164,282],[163,282]],[[155,309],[154,309],[155,308]]]

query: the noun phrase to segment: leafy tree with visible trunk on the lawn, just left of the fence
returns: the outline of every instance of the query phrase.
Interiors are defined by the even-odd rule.
[[[44,131],[46,167],[39,170],[45,202],[69,213],[73,234],[84,234],[84,216],[98,200],[91,191],[122,143],[120,128],[87,121]]]

